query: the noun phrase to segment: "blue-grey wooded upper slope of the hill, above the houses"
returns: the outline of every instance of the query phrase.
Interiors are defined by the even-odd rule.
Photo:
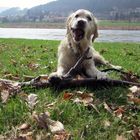
[[[29,11],[70,12],[80,8],[94,12],[107,12],[113,8],[129,9],[140,7],[140,0],[57,0],[31,8]]]

